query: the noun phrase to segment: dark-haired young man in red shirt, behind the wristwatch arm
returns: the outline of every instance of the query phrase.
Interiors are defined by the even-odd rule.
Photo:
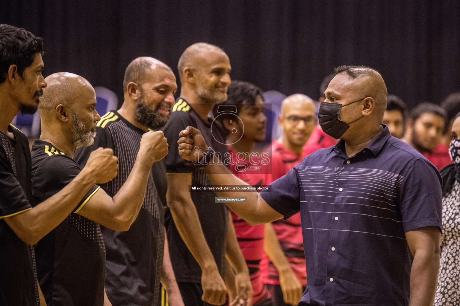
[[[214,106],[213,114],[226,135],[227,156],[224,163],[238,178],[253,187],[265,185],[268,159],[255,151],[256,143],[265,139],[267,117],[264,114],[263,91],[252,83],[233,81],[228,88],[225,102]],[[268,154],[266,154],[268,156]],[[246,260],[253,286],[254,306],[273,306],[266,286],[260,278],[259,263],[264,255],[265,224],[251,226],[230,211],[236,238]],[[231,270],[226,278],[231,281]],[[231,291],[231,290],[230,290]],[[229,300],[233,299],[229,292]]]

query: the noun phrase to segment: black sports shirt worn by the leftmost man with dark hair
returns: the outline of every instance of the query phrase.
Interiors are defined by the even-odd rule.
[[[29,142],[17,128],[8,131],[14,139],[0,132],[0,306],[40,305],[33,249],[4,220],[32,208]]]

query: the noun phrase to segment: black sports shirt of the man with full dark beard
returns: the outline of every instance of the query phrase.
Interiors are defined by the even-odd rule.
[[[98,147],[113,149],[118,157],[118,175],[101,185],[113,197],[131,173],[145,132],[116,111],[101,117],[96,131],[94,144],[76,150],[75,160],[83,166],[92,150]],[[165,199],[166,171],[160,161],[153,164],[144,204],[129,230],[117,232],[101,227],[107,251],[105,290],[113,306],[159,305]]]

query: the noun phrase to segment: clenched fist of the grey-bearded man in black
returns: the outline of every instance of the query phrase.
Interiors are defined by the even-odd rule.
[[[168,154],[168,143],[162,131],[147,132],[142,135],[139,153],[153,164]]]

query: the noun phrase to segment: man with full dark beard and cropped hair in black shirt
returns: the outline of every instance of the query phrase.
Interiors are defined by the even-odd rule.
[[[113,306],[160,305],[164,297],[161,283],[168,293],[169,305],[183,305],[167,252],[163,221],[167,187],[162,158],[168,145],[163,132],[155,131],[167,122],[176,90],[171,68],[152,57],[136,58],[126,68],[123,105],[97,123],[94,145],[75,152],[75,160],[84,165],[92,150],[114,150],[118,175],[100,186],[109,195],[116,195],[137,167],[136,156],[142,152],[144,138],[156,134],[162,139],[158,152],[152,152],[152,156],[161,158],[155,159],[153,166],[144,165],[148,172],[146,188],[139,194],[145,198],[129,230],[101,227],[107,255],[105,291]]]

